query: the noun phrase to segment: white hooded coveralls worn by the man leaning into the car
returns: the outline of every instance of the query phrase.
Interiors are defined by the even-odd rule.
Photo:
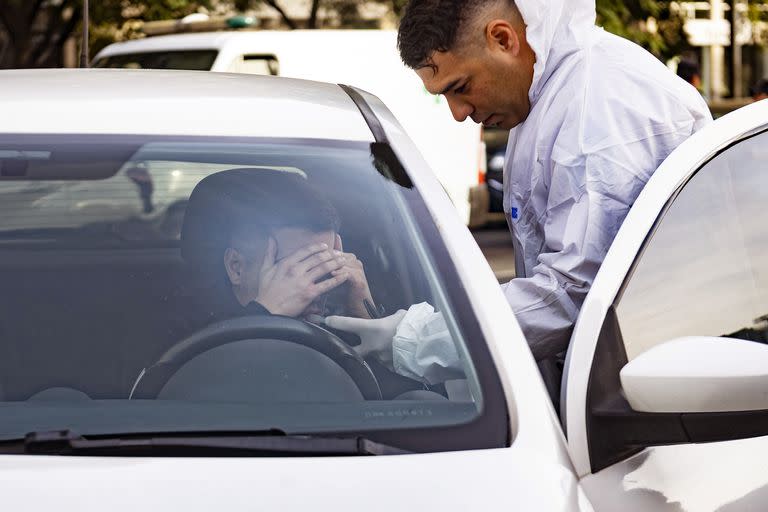
[[[594,0],[516,5],[536,63],[530,113],[507,145],[504,211],[517,277],[502,287],[534,357],[543,360],[567,348],[645,183],[712,117],[696,89],[653,55],[596,27]],[[393,363],[398,373],[434,383],[455,375],[459,359],[444,322],[443,336],[434,332],[437,319],[430,322],[420,343],[423,328],[404,318]]]

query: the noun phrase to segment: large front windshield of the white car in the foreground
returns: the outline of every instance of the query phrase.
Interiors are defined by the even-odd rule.
[[[0,440],[279,429],[497,443],[471,430],[496,393],[482,336],[438,277],[447,253],[414,215],[417,192],[373,146],[0,135]],[[403,346],[447,338],[460,369],[394,371],[391,349],[362,358],[359,336],[324,323],[401,310]],[[474,437],[435,437],[446,428]]]

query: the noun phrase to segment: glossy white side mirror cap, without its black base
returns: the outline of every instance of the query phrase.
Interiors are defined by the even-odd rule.
[[[638,412],[768,410],[768,345],[752,341],[677,338],[640,354],[619,376]]]

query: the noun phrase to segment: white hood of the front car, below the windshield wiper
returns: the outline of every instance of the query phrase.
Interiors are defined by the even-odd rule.
[[[313,459],[5,455],[0,494],[9,510],[31,511],[564,511],[585,502],[570,468],[511,448]]]

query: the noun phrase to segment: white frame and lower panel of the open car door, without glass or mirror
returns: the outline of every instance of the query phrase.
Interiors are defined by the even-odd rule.
[[[586,430],[587,386],[600,329],[608,308],[659,213],[691,174],[735,141],[764,128],[766,120],[768,101],[762,101],[724,116],[675,150],[648,181],[627,215],[584,302],[566,361],[563,415],[574,467],[579,477],[583,478],[590,499],[596,504],[600,503],[596,505],[598,510],[648,510],[649,503],[653,504],[653,510],[664,510],[664,504],[674,502],[680,505],[669,505],[669,510],[714,511],[717,503],[734,505],[734,508],[728,510],[749,510],[737,504],[738,500],[768,484],[764,470],[759,473],[759,477],[753,473],[754,464],[765,464],[764,461],[768,460],[768,438],[765,437],[727,443],[648,448],[641,454],[592,475]],[[728,480],[739,481],[739,485],[722,485],[719,470],[710,471],[720,465],[722,445],[732,447],[733,451],[729,453],[742,454],[739,456],[752,461],[738,467],[731,466]],[[739,449],[739,446],[746,445],[750,446],[752,452]],[[637,473],[641,466],[646,468],[645,472]],[[638,479],[639,474],[644,475],[644,478]],[[690,485],[691,479],[696,479],[696,485]],[[749,484],[743,489],[742,484],[745,482]],[[701,496],[708,497],[709,506],[687,505],[702,503]]]

